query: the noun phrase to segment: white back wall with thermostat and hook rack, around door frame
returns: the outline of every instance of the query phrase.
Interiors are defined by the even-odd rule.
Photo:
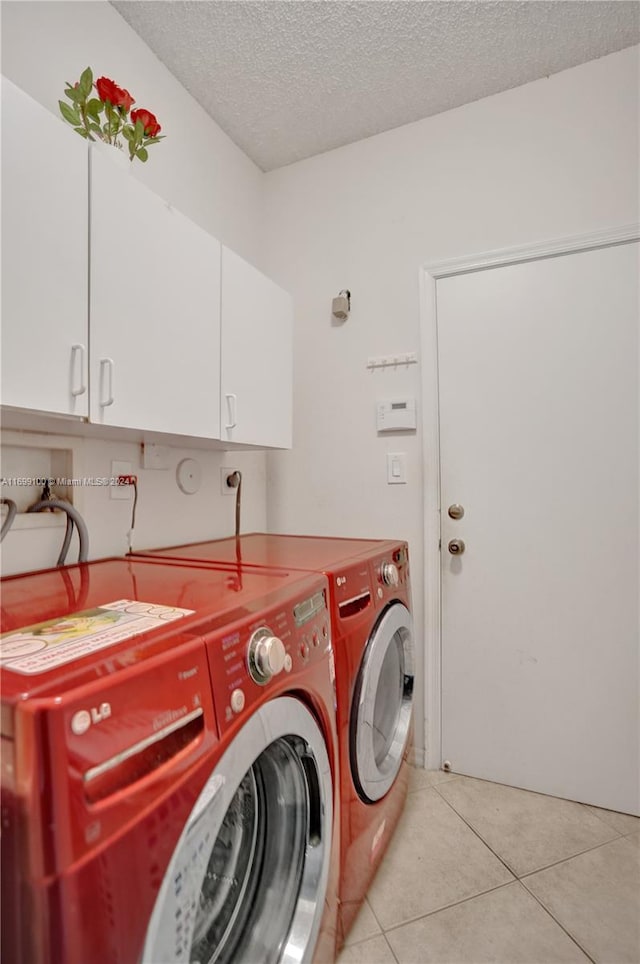
[[[265,270],[296,306],[294,448],[268,456],[269,528],[408,539],[422,626],[433,480],[419,432],[374,421],[421,374],[372,374],[368,356],[419,350],[421,264],[637,219],[638,48],[266,175]],[[406,485],[387,485],[387,451],[407,453]]]

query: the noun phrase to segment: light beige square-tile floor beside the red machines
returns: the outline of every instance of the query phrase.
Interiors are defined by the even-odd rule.
[[[412,770],[339,964],[640,964],[640,819]]]

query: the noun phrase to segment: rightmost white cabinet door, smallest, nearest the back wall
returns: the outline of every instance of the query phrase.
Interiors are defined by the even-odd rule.
[[[221,323],[222,438],[291,448],[291,296],[225,247]]]

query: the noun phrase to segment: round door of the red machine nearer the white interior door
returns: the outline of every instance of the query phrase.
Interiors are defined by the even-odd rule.
[[[413,620],[402,603],[384,611],[367,643],[351,710],[351,771],[375,803],[398,775],[411,730]]]

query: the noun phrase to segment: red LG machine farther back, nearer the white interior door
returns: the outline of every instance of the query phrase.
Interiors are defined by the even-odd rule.
[[[414,673],[407,545],[251,533],[147,555],[298,568],[329,579],[342,801],[340,945],[406,799]]]

